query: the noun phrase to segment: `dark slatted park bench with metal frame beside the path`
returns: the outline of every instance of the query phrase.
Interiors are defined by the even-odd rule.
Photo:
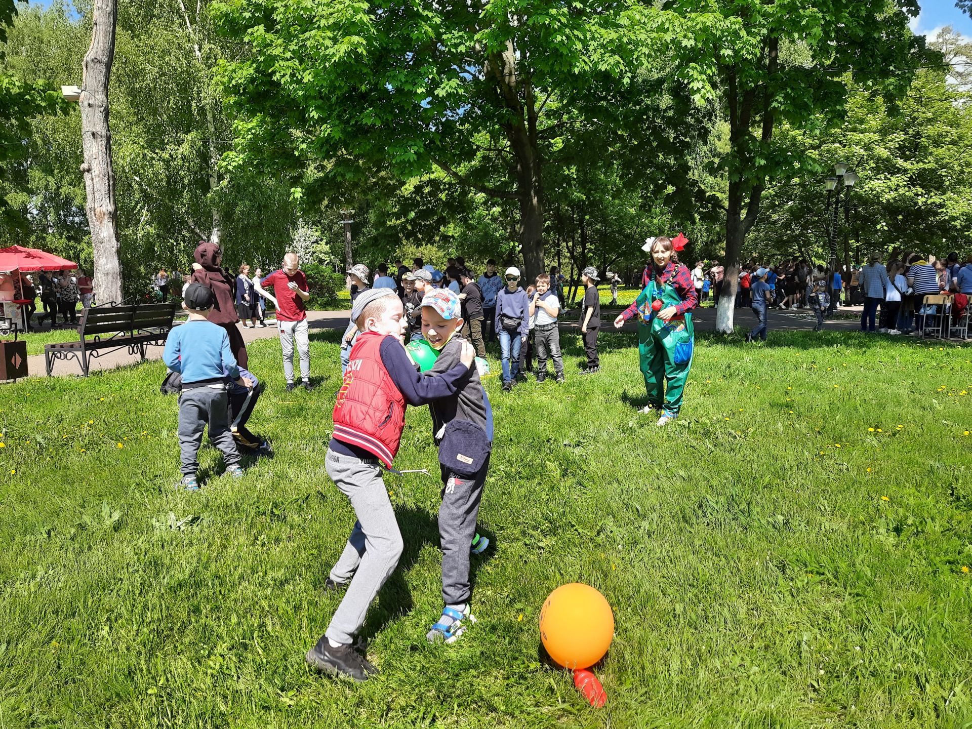
[[[44,362],[51,376],[54,361],[75,359],[87,376],[88,365],[95,357],[127,348],[128,354],[139,354],[145,360],[150,345],[165,344],[176,315],[175,302],[148,304],[104,304],[85,309],[78,327],[80,339],[44,346]],[[93,339],[88,339],[90,335]],[[102,335],[108,334],[106,338]]]

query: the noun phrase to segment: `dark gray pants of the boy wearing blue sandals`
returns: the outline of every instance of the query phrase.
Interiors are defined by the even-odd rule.
[[[489,471],[489,456],[474,476],[461,476],[442,467],[442,505],[438,507],[438,536],[442,545],[442,602],[469,602],[469,544],[476,534],[476,516]]]

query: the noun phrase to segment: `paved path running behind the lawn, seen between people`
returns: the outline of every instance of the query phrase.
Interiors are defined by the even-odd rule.
[[[610,322],[613,321],[614,317],[617,316],[617,310],[605,309],[602,312],[602,318],[605,320],[605,326],[610,327]],[[856,313],[859,315],[860,307],[847,307],[842,309],[844,313]],[[344,329],[345,325],[348,323],[348,317],[350,316],[350,310],[344,311],[310,311],[307,313],[307,321],[311,332],[320,330],[335,330]],[[577,327],[577,312],[572,310],[568,312],[564,321],[565,329],[575,330]],[[736,325],[744,329],[751,328],[756,323],[755,317],[752,315],[748,309],[737,309],[736,310]],[[813,329],[816,321],[814,315],[809,310],[797,310],[797,311],[777,311],[771,309],[769,313],[769,326],[770,330],[807,330]],[[848,320],[834,320],[827,323],[827,329],[836,330],[855,330],[859,327],[857,321]],[[700,309],[695,313],[695,328],[699,331],[712,331],[715,329],[715,309],[704,308]],[[243,339],[247,343],[256,341],[257,339],[268,339],[276,338],[277,330],[276,327],[270,325],[264,329],[243,329]],[[634,322],[629,322],[625,328],[625,331],[636,330],[636,325]],[[65,340],[70,338],[69,330],[65,330]],[[150,347],[148,360],[157,360],[162,356],[161,347]],[[129,355],[124,349],[117,352],[112,352],[103,357],[97,357],[91,360],[91,371],[94,370],[104,370],[104,369],[114,369],[116,367],[124,366],[126,364],[137,364],[139,362],[138,355]],[[32,355],[27,358],[27,366],[32,377],[45,377],[45,367],[44,367],[44,356],[43,355]],[[53,375],[54,376],[64,376],[64,375],[80,375],[81,365],[75,361],[59,360],[54,363]]]

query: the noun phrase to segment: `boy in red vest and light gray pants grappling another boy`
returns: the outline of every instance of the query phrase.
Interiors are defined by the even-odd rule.
[[[466,342],[448,371],[420,374],[402,345],[405,316],[394,289],[359,295],[351,318],[361,333],[334,403],[326,467],[334,485],[351,500],[358,521],[325,583],[328,590],[346,585],[347,592],[306,658],[332,676],[364,681],[376,670],[352,643],[368,606],[399,564],[402,548],[381,468],[390,469],[399,450],[406,402],[421,405],[454,395],[469,379],[475,350]]]

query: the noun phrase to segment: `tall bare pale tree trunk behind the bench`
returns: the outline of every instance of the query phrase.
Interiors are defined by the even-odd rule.
[[[81,90],[81,133],[85,163],[87,224],[94,249],[94,292],[102,303],[121,301],[118,211],[112,132],[108,123],[108,83],[115,57],[117,0],[94,0],[91,45],[84,62]]]

